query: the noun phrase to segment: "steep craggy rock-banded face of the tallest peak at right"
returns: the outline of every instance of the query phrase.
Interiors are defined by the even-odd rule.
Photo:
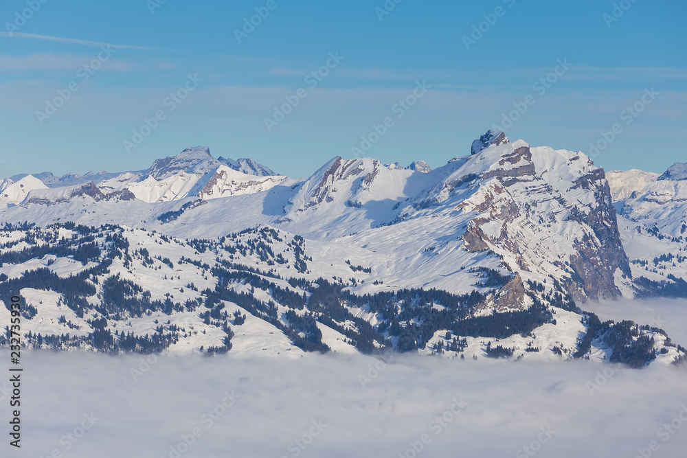
[[[453,196],[457,209],[475,214],[465,248],[497,253],[526,279],[554,277],[586,301],[617,297],[616,277],[631,275],[605,174],[584,154],[491,144],[439,189],[433,205]]]

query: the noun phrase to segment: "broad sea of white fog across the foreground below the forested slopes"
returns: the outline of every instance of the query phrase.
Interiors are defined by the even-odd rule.
[[[669,458],[687,448],[687,422],[660,430],[687,405],[685,368],[337,355],[159,358],[148,368],[141,358],[23,353],[22,448],[5,455],[2,444],[2,455],[631,458],[656,441],[653,456]],[[192,445],[178,446],[181,436]]]

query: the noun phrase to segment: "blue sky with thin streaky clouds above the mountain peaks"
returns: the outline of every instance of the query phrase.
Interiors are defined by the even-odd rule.
[[[352,148],[437,167],[509,121],[532,146],[602,147],[606,170],[687,161],[684,1],[43,1],[0,6],[0,176],[198,145],[294,177]]]

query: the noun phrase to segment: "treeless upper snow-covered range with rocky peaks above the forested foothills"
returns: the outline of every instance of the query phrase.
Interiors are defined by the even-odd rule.
[[[471,268],[510,271],[508,293],[495,295],[491,303],[497,310],[528,307],[526,293],[533,282],[552,291],[555,280],[581,301],[616,297],[631,283],[605,173],[587,156],[532,148],[522,140],[511,143],[500,131],[475,140],[471,152],[435,170],[419,161],[403,168],[335,157],[309,179],[295,181],[243,174],[212,159],[207,148],[189,148],[156,161],[144,178],[131,172],[100,184],[32,190],[23,208],[7,206],[0,216],[44,224],[78,218],[98,225],[135,214],[131,224],[159,229],[164,223],[166,231],[183,237],[188,231],[220,237],[273,225],[317,240],[321,247],[351,248],[361,260],[345,266],[346,272],[369,271],[363,260],[377,260],[367,272],[377,276],[368,278],[365,288],[385,282],[394,288],[440,286],[470,293],[476,275],[468,273]],[[206,170],[210,164],[214,168]],[[625,204],[633,205],[632,211],[644,205],[676,212],[684,204],[678,198],[684,193],[677,190],[685,183],[654,181],[655,190]],[[207,205],[174,203],[190,198]],[[668,198],[670,209],[656,203],[661,198]],[[237,211],[242,218],[235,217]],[[687,220],[670,229],[676,240],[684,237]]]

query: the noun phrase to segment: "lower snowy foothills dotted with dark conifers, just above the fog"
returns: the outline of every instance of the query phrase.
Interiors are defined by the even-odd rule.
[[[34,250],[50,247],[58,255],[30,259],[31,253],[14,249],[25,240],[38,242]],[[507,276],[494,277],[495,271],[488,268],[469,269],[463,278],[471,277],[473,287],[464,289],[472,293],[460,297],[440,290],[388,289],[372,284],[381,268],[374,257],[365,260],[347,247],[308,242],[270,227],[218,240],[182,240],[126,227],[54,225],[5,230],[0,242],[14,253],[3,254],[0,288],[20,288],[26,301],[25,341],[36,347],[170,354],[231,351],[271,358],[303,351],[369,353],[387,348],[500,358],[492,353],[498,345],[518,359],[589,357],[632,367],[668,364],[685,356],[661,330],[595,323],[556,297],[550,298],[558,306],[543,306],[539,293],[529,296],[532,310],[515,311],[528,324],[504,335],[488,320],[506,315],[485,315],[479,304],[491,300],[495,288],[508,282]],[[380,255],[378,261],[382,260]],[[488,265],[485,261],[483,266]],[[26,275],[41,275],[45,289],[28,286],[33,280]],[[334,282],[324,281],[324,276]],[[74,288],[65,289],[74,282],[80,285],[76,297]],[[348,293],[362,293],[364,288],[376,301]],[[423,295],[431,295],[431,307],[421,305]],[[380,309],[380,301],[387,300],[393,308]],[[442,328],[442,313],[449,310],[460,318]],[[8,318],[9,311],[0,308],[0,317]],[[471,330],[471,323],[480,320],[486,320],[481,332]],[[503,325],[507,330],[516,323]],[[589,339],[581,340],[585,333],[591,333]],[[618,359],[618,348],[631,345],[633,339],[638,342],[636,351],[626,360]]]

